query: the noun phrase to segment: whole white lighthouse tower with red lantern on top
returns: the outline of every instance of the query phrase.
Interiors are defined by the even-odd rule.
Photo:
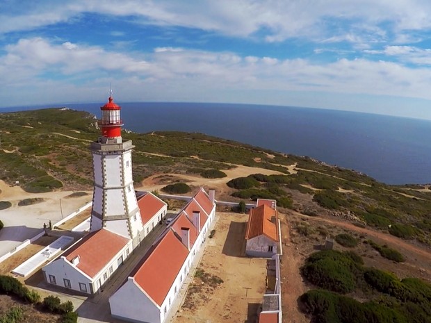
[[[104,228],[135,240],[143,230],[143,221],[133,188],[134,146],[131,140],[122,140],[121,108],[113,102],[112,93],[100,109],[101,135],[90,146],[95,181],[90,232]]]

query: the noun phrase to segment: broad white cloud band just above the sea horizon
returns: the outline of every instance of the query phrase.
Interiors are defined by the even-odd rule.
[[[414,49],[388,50],[402,55]],[[430,60],[431,56],[425,51],[418,56],[421,57]],[[242,58],[236,53],[189,49],[159,50],[144,57],[141,53],[106,51],[83,44],[54,44],[43,38],[22,39],[8,45],[6,54],[0,56],[0,74],[8,75],[0,78],[0,95],[9,100],[3,100],[5,105],[22,100],[22,93],[29,88],[46,94],[36,102],[40,93],[28,92],[26,99],[34,104],[48,99],[76,101],[77,93],[82,101],[94,101],[97,92],[106,92],[108,80],[117,83],[117,93],[144,101],[223,101],[236,91],[249,93],[249,97],[261,94],[260,101],[254,103],[286,105],[291,103],[275,102],[271,93],[325,91],[431,99],[427,67],[409,68],[400,63],[365,59],[318,65],[302,58]],[[58,77],[61,81],[55,81]],[[48,85],[58,90],[47,93]],[[246,101],[247,96],[241,100]],[[318,98],[314,106],[319,106]]]

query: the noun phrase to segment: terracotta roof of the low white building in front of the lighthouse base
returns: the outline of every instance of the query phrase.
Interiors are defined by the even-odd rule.
[[[63,256],[72,263],[79,256],[77,268],[94,277],[112,258],[129,242],[129,239],[106,229],[101,229],[86,235],[82,240],[72,245]]]

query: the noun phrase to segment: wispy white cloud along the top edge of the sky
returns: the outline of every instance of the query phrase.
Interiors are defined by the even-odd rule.
[[[82,13],[99,13],[132,16],[142,24],[186,26],[238,37],[255,37],[263,31],[263,39],[268,42],[307,37],[331,42],[344,40],[365,48],[369,42],[386,40],[387,32],[380,24],[391,28],[398,42],[409,40],[407,31],[431,28],[428,0],[76,0],[66,3],[44,0],[35,1],[31,6],[13,3],[20,11],[2,10],[0,33],[67,22],[79,19]]]

